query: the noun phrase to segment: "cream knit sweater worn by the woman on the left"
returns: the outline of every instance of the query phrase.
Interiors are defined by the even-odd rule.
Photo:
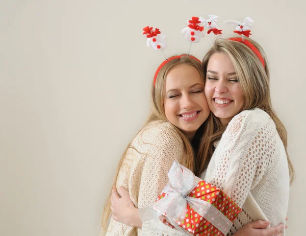
[[[183,141],[169,122],[153,122],[142,129],[133,139],[119,171],[116,186],[129,190],[132,201],[138,208],[156,201],[168,182],[168,171],[175,159],[186,164]],[[159,220],[158,231],[167,230]],[[155,229],[152,229],[155,231]],[[141,235],[141,229],[111,219],[106,235]],[[160,235],[160,234],[149,234]],[[161,234],[162,235],[162,234]]]

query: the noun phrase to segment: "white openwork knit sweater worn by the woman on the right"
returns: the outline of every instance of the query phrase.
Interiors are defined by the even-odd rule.
[[[242,208],[228,235],[255,220],[285,224],[287,156],[274,122],[263,110],[245,110],[232,119],[201,178],[220,187]],[[153,220],[143,224],[142,235],[184,234]]]

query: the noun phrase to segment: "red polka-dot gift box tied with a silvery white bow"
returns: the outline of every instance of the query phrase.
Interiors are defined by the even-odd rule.
[[[175,161],[154,209],[189,235],[226,235],[241,208],[220,188]]]

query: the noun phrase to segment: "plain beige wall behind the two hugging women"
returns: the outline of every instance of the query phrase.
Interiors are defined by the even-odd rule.
[[[0,1],[0,235],[98,235],[117,161],[141,127],[155,69],[142,28],[186,53],[191,16],[253,18],[266,50],[274,108],[289,134],[297,179],[288,235],[302,235],[305,191],[302,1]],[[296,15],[296,16],[295,16]],[[207,35],[192,47],[202,58]],[[275,196],[276,198],[277,196]],[[273,207],[273,206],[272,206]]]

